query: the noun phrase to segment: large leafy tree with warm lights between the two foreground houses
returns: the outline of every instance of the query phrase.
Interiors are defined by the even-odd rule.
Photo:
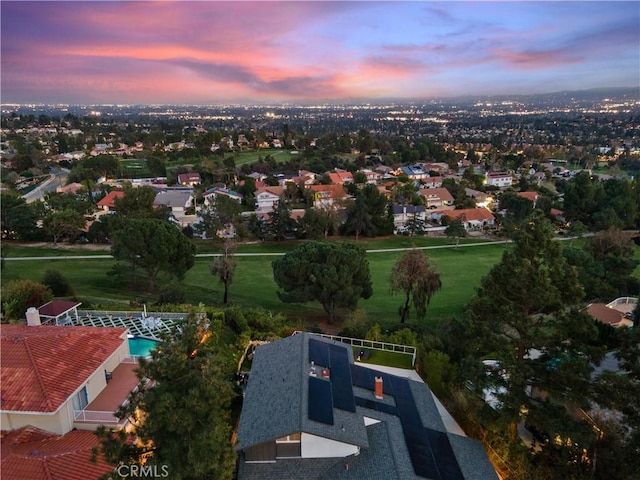
[[[140,387],[116,414],[131,429],[96,434],[113,465],[165,466],[172,479],[230,480],[235,463],[231,443],[234,346],[222,341],[221,322],[190,314],[181,331],[141,359]],[[206,452],[204,454],[203,452]]]

